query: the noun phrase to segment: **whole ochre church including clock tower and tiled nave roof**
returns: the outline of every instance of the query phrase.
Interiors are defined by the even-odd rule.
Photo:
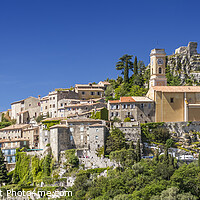
[[[184,51],[194,55],[194,47],[195,44],[189,43]],[[155,102],[155,122],[200,121],[200,86],[167,86],[164,50],[154,49],[150,56],[152,73],[146,96]]]

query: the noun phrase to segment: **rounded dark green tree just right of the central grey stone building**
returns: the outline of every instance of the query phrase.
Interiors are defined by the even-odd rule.
[[[106,152],[119,151],[126,147],[125,134],[118,128],[113,128],[106,141]]]

